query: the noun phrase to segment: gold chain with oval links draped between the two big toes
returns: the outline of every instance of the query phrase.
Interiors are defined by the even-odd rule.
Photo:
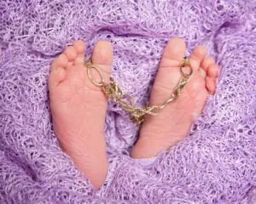
[[[191,65],[189,64],[189,59],[185,57],[182,60],[181,65],[179,65],[179,70],[181,72],[181,78],[179,82],[177,83],[177,88],[174,89],[171,97],[167,99],[163,104],[161,105],[147,105],[145,108],[139,108],[136,107],[134,99],[131,98],[130,95],[124,94],[119,86],[116,84],[116,82],[113,81],[113,78],[110,77],[110,82],[106,83],[102,74],[101,68],[97,67],[96,65],[93,65],[90,61],[85,61],[85,66],[87,67],[87,74],[90,78],[90,82],[95,84],[97,87],[102,88],[102,92],[109,98],[115,101],[117,104],[121,105],[121,107],[130,113],[131,121],[137,123],[137,125],[141,124],[144,121],[145,115],[151,115],[156,116],[158,111],[165,108],[166,105],[169,105],[174,100],[178,98],[178,96],[181,94],[181,91],[183,88],[187,85],[189,82],[189,77],[192,75],[193,70]],[[189,66],[189,74],[186,74],[183,71],[183,68]],[[91,77],[90,71],[92,69],[95,69],[99,75],[101,76],[102,80],[101,82],[96,82]]]

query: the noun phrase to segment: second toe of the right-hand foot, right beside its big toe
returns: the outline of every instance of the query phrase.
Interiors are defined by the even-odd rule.
[[[196,47],[189,56],[189,62],[194,71],[199,71],[202,60],[207,54],[207,49],[204,46]]]

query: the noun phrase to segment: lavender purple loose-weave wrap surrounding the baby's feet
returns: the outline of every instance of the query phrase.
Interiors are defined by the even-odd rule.
[[[188,139],[155,161],[131,159],[137,127],[108,103],[111,162],[101,190],[61,151],[50,121],[49,65],[75,39],[113,43],[112,75],[148,101],[171,37],[205,44],[218,91]],[[256,203],[256,2],[0,1],[0,203]],[[85,148],[85,147],[84,147]]]

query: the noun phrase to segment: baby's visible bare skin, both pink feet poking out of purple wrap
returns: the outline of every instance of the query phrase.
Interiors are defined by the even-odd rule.
[[[73,46],[57,57],[49,74],[49,99],[55,134],[61,149],[75,165],[100,189],[108,173],[108,156],[103,132],[108,99],[101,89],[90,82],[84,66],[84,42]],[[180,79],[178,65],[185,54],[185,42],[172,38],[164,50],[160,68],[150,96],[150,105],[160,105],[170,97]],[[146,116],[140,137],[131,150],[133,158],[156,156],[184,139],[209,94],[216,90],[218,65],[206,57],[200,46],[189,56],[193,74],[180,97],[157,116]],[[96,43],[92,62],[104,71],[109,80],[113,48],[109,42]]]

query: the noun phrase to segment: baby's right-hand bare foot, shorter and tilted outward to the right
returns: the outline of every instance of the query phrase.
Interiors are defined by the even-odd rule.
[[[179,98],[157,116],[146,116],[137,144],[131,150],[132,157],[156,156],[187,136],[208,95],[214,94],[216,89],[218,65],[214,59],[205,58],[206,53],[204,47],[197,47],[189,57],[193,74]],[[168,42],[151,92],[150,105],[160,105],[171,96],[181,77],[178,66],[184,54],[185,42],[182,39],[173,38]]]

